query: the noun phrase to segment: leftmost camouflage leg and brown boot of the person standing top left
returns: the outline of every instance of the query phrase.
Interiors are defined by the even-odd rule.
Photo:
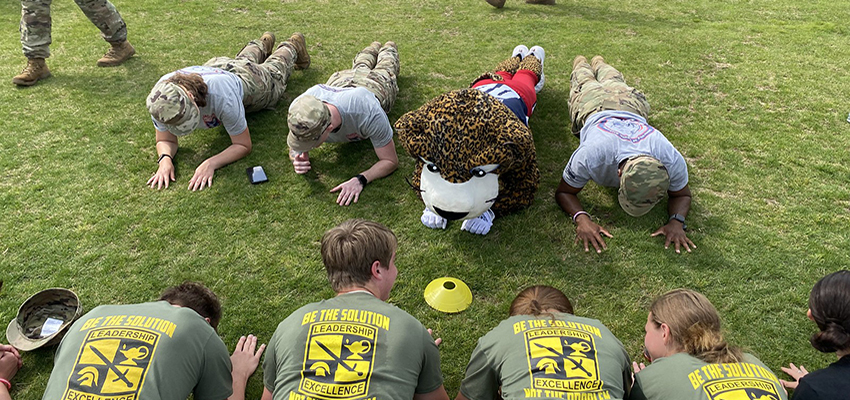
[[[52,0],[21,0],[21,47],[27,66],[12,78],[19,86],[35,85],[50,77],[44,59],[50,57],[50,3]]]

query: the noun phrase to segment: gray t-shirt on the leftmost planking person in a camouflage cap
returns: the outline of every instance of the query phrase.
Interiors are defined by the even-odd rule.
[[[248,121],[245,120],[245,106],[242,105],[242,80],[238,76],[218,68],[211,67],[186,67],[181,70],[163,75],[159,82],[168,79],[177,72],[189,74],[196,73],[204,78],[207,84],[207,105],[200,107],[201,123],[198,129],[210,129],[224,125],[224,129],[230,136],[236,136],[248,129]],[[168,131],[165,125],[153,119],[153,125],[160,131]]]

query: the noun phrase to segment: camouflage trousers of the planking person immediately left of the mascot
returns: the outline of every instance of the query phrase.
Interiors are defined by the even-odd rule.
[[[373,42],[357,53],[351,69],[335,72],[326,85],[336,87],[361,86],[375,94],[386,113],[390,112],[398,96],[396,78],[399,72],[398,49],[395,43],[383,47]]]

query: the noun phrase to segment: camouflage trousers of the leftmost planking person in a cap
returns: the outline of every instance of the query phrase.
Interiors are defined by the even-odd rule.
[[[295,68],[296,55],[295,47],[289,42],[281,43],[272,54],[266,54],[263,43],[257,39],[248,43],[236,58],[215,57],[204,66],[221,68],[242,79],[245,91],[242,104],[246,112],[252,112],[277,104]]]

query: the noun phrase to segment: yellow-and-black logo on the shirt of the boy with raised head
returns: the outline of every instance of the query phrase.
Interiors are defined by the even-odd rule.
[[[349,399],[369,392],[378,330],[351,322],[310,327],[299,391],[322,399]]]

